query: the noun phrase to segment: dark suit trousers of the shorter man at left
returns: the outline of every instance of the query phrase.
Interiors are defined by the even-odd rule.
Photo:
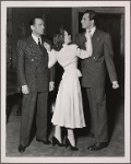
[[[47,140],[47,92],[31,92],[29,94],[23,95],[20,144],[26,147],[29,143],[36,104],[36,138],[39,140]]]

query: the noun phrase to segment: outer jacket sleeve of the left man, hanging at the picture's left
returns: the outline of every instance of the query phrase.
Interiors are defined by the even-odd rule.
[[[24,42],[23,40],[19,40],[17,42],[17,81],[19,81],[19,85],[26,85],[26,79],[25,79],[25,72],[24,72]]]

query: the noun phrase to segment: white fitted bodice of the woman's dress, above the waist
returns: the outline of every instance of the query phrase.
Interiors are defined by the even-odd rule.
[[[78,69],[78,57],[82,59],[88,58],[88,54],[86,50],[78,48],[76,45],[63,45],[60,51],[52,49],[49,52],[48,67],[50,68],[58,61],[63,68],[64,73],[81,77],[81,72]]]

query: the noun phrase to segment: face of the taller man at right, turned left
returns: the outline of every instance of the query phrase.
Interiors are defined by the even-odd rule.
[[[93,20],[90,20],[90,14],[85,13],[82,17],[82,28],[91,28]]]

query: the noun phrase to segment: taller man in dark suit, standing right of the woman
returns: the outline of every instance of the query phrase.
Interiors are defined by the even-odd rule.
[[[82,67],[82,86],[86,89],[90,102],[92,133],[95,137],[95,143],[88,147],[88,150],[99,150],[108,145],[108,128],[105,95],[106,69],[109,73],[112,89],[118,89],[117,74],[112,61],[114,52],[110,35],[95,26],[96,12],[87,10],[82,17],[82,28],[90,31],[93,43],[93,56],[81,60]],[[76,44],[85,49],[85,35],[79,34]]]

